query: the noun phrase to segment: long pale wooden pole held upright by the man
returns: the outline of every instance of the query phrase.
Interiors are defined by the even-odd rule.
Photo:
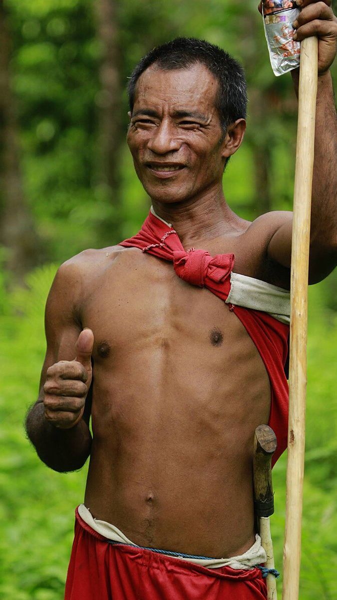
[[[306,340],[312,169],[317,97],[317,38],[303,40],[291,250],[291,310],[287,500],[282,600],[299,597],[305,451]]]

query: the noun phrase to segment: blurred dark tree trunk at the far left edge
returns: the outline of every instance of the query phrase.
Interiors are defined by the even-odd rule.
[[[0,0],[0,244],[17,280],[40,259],[40,240],[23,194],[15,102],[10,86],[10,34]]]

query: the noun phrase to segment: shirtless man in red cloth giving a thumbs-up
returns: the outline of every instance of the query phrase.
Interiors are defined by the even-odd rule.
[[[320,40],[315,282],[336,262],[330,0],[303,0],[295,28]],[[266,598],[252,438],[269,422],[284,449],[291,214],[249,223],[225,202],[245,104],[222,50],[183,38],[149,53],[131,77],[128,145],[152,212],[135,238],[62,265],[50,290],[27,431],[52,469],[90,455],[68,600]]]

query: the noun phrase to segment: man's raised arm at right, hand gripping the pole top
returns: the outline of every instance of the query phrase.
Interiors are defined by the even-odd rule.
[[[337,262],[337,115],[329,67],[336,55],[337,19],[331,0],[303,0],[294,24],[294,34],[302,41],[318,37],[318,90],[315,126],[315,159],[312,179],[309,283],[326,277]],[[292,71],[296,93],[298,70]],[[273,234],[268,256],[290,266],[291,228],[289,217]]]

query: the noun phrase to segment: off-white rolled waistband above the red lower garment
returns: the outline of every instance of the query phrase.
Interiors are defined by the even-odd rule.
[[[104,538],[111,539],[113,542],[119,542],[120,544],[128,544],[137,547],[137,544],[131,542],[124,533],[115,527],[115,525],[107,523],[107,521],[95,519],[84,504],[79,506],[78,511],[83,521],[85,521],[89,527],[94,529],[95,532],[103,535]],[[255,540],[255,544],[253,544],[244,554],[241,554],[241,556],[231,556],[228,559],[192,559],[182,556],[177,556],[176,558],[186,560],[194,565],[206,566],[209,569],[220,568],[222,566],[230,566],[232,569],[252,569],[254,566],[261,565],[267,560],[266,553],[261,546],[260,536],[256,535]],[[166,556],[170,555],[167,554]]]

